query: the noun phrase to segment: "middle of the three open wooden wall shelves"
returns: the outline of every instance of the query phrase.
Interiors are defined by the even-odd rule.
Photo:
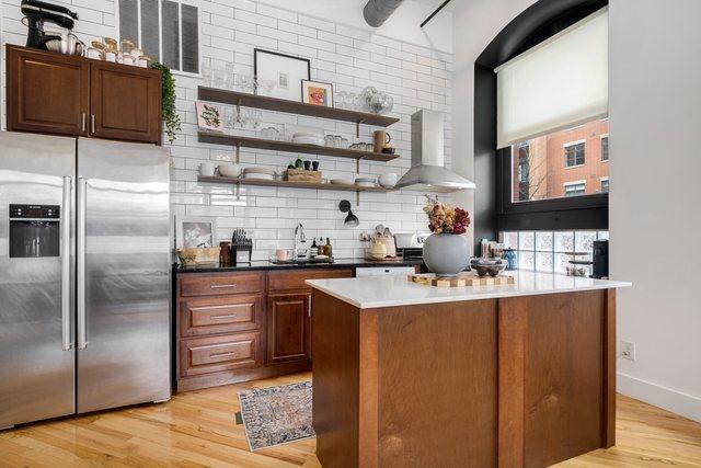
[[[239,135],[225,135],[217,132],[199,132],[199,142],[215,145],[241,146],[248,148],[271,149],[273,151],[302,152],[306,155],[334,156],[338,158],[365,159],[368,161],[391,161],[399,155],[384,155],[375,151],[358,151],[356,149],[332,148],[327,146],[300,145],[291,141],[268,140]]]

